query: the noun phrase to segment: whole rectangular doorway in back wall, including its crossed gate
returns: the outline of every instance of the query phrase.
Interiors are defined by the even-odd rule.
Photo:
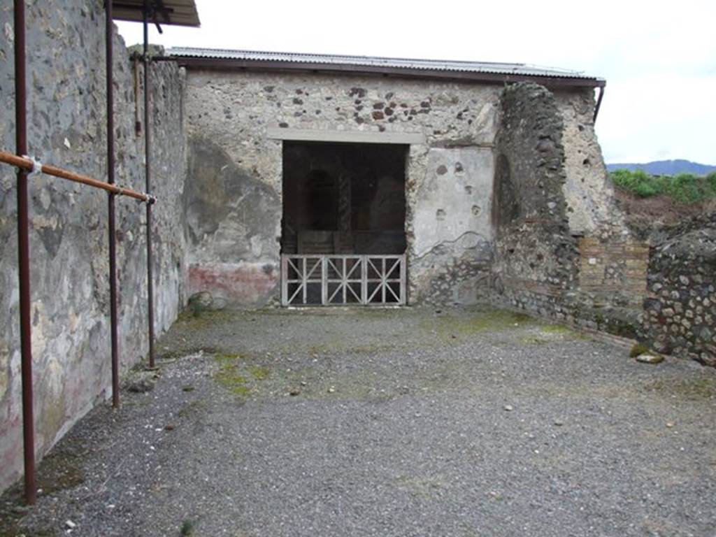
[[[284,306],[405,304],[408,147],[284,142]]]

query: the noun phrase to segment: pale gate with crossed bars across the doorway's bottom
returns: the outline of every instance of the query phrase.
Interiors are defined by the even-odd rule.
[[[405,304],[405,255],[281,256],[284,306]]]

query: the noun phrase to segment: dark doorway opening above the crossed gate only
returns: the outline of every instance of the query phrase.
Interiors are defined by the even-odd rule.
[[[281,253],[405,253],[407,150],[284,142]]]

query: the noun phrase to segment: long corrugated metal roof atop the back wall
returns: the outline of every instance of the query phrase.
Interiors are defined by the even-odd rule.
[[[462,72],[522,77],[557,77],[600,80],[584,72],[529,64],[499,62],[458,62],[442,59],[403,59],[369,56],[340,56],[335,54],[299,54],[294,52],[253,52],[248,50],[199,49],[173,47],[167,50],[172,57],[243,60],[246,62],[277,62],[289,64],[319,64],[330,66],[358,66],[384,69],[424,70],[426,72]]]

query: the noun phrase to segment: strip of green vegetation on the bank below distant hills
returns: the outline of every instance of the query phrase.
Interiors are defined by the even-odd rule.
[[[716,172],[705,177],[691,173],[649,175],[643,170],[616,170],[610,174],[614,185],[639,196],[667,195],[679,203],[700,203],[716,198]]]

